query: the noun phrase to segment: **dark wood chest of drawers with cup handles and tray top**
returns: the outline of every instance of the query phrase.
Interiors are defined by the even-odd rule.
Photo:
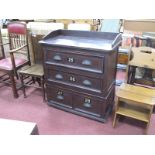
[[[105,122],[113,107],[117,33],[57,30],[40,43],[48,104]]]

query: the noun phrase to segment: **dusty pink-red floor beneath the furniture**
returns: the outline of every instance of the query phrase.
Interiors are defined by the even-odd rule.
[[[144,124],[123,119],[112,128],[112,116],[106,123],[74,115],[43,102],[41,91],[27,88],[27,98],[19,91],[14,99],[11,87],[0,85],[0,118],[36,122],[41,135],[141,135]],[[148,134],[155,135],[155,114],[152,115]]]

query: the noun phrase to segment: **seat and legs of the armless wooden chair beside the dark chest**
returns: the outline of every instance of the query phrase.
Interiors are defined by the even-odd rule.
[[[32,66],[30,66],[30,67],[28,67],[26,69],[20,70],[19,75],[20,75],[20,80],[21,80],[21,84],[22,84],[22,90],[23,90],[24,97],[26,97],[25,86],[33,86],[33,87],[42,89],[43,101],[45,101],[45,87],[44,87],[43,66],[41,64],[34,64],[34,65],[32,65]],[[24,82],[24,78],[26,76],[30,76],[30,77],[32,77],[32,79],[30,79],[27,82]],[[34,78],[40,80],[40,86],[32,85],[34,83],[34,81],[35,81]]]

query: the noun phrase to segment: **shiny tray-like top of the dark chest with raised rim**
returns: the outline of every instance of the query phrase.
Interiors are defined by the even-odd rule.
[[[90,50],[111,51],[121,42],[121,34],[76,30],[57,30],[48,34],[43,45],[76,47]]]

